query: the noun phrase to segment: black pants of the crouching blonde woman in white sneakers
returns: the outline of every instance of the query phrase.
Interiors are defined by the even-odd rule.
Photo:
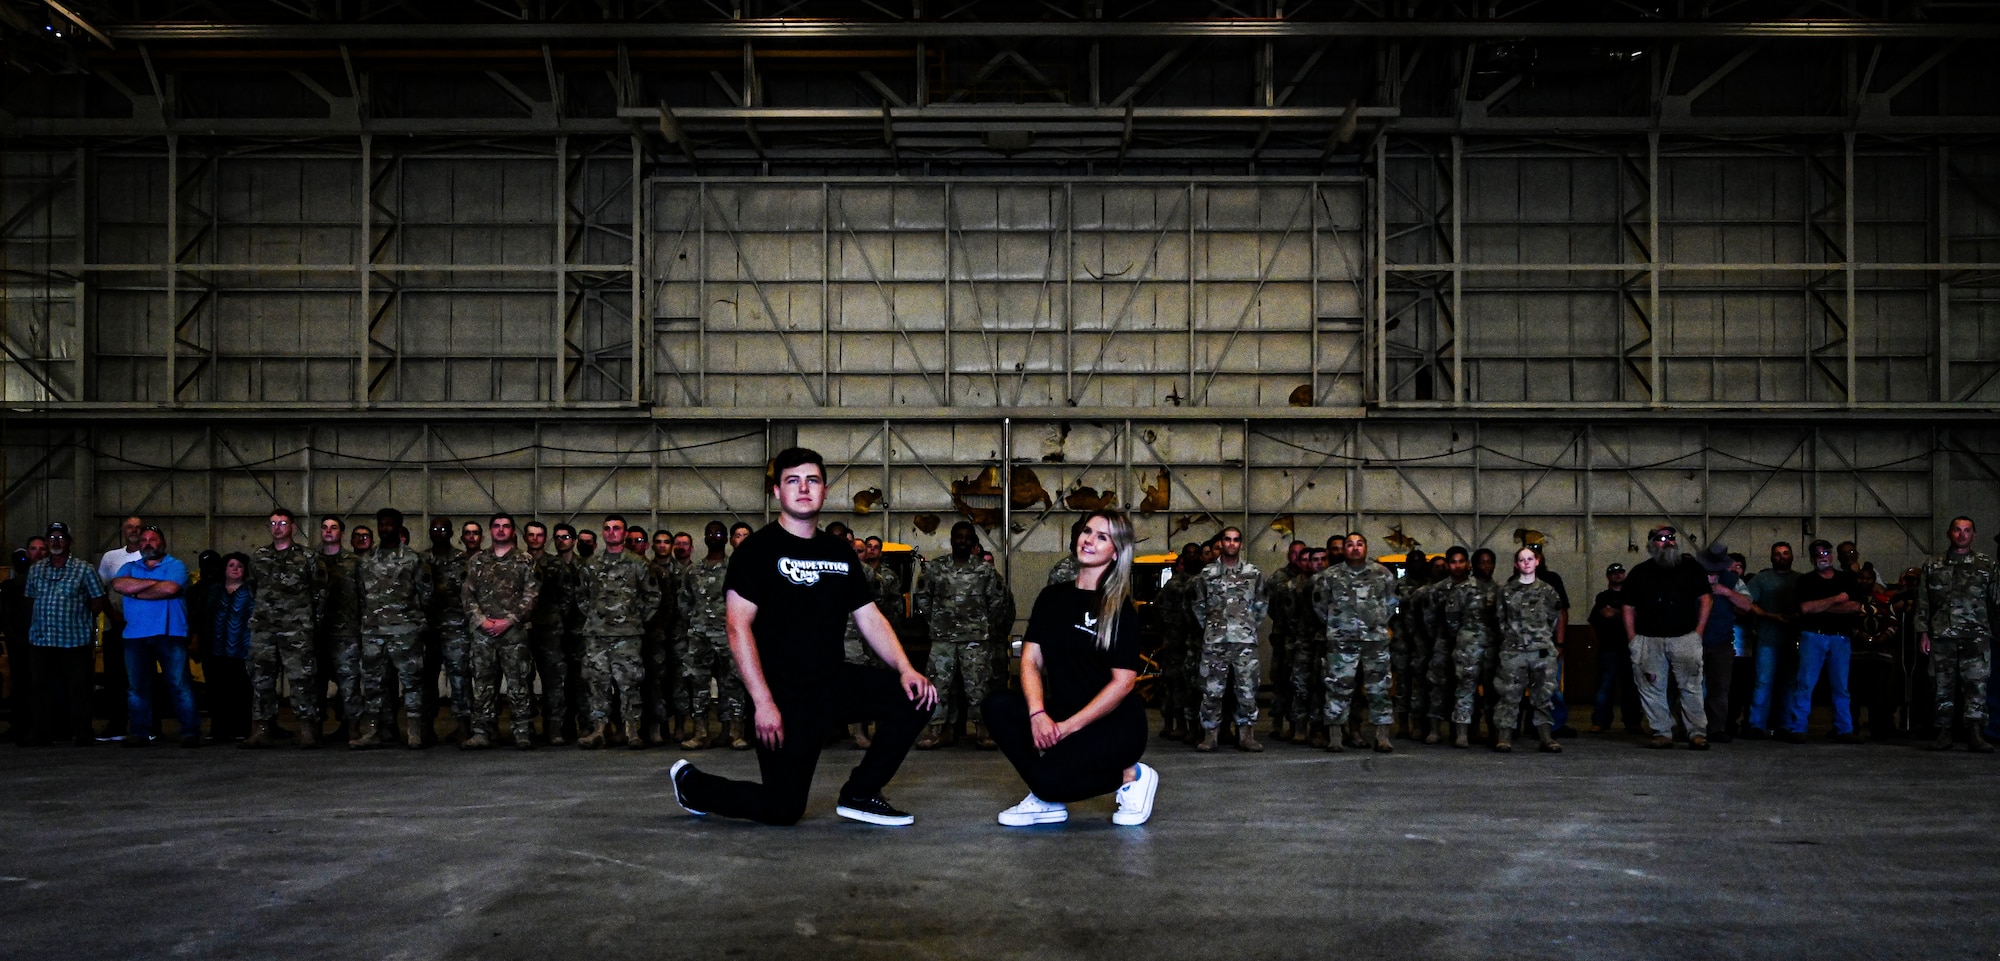
[[[986,699],[986,733],[1000,743],[1000,753],[1014,763],[1034,797],[1066,805],[1124,785],[1124,769],[1146,753],[1146,711],[1126,701],[1056,741],[1056,747],[1038,751],[1028,727],[1028,699],[1006,691]]]

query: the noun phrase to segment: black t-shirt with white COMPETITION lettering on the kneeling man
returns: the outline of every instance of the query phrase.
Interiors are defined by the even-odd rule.
[[[776,523],[736,547],[722,587],[756,605],[750,633],[772,685],[832,679],[848,619],[874,603],[846,539],[816,531],[808,541]]]

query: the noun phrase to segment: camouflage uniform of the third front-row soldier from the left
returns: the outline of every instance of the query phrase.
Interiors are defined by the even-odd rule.
[[[466,585],[460,603],[466,609],[466,639],[470,641],[472,733],[492,737],[500,725],[500,689],[506,687],[506,709],[514,721],[514,741],[534,739],[534,655],[528,651],[528,615],[542,583],[534,577],[528,551],[506,555],[482,551],[466,565]],[[480,631],[488,617],[512,623],[500,637]]]

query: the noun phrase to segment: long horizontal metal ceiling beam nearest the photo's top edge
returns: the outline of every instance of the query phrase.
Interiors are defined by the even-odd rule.
[[[706,22],[596,22],[596,24],[128,24],[108,28],[114,40],[148,44],[226,42],[568,42],[568,40],[1288,40],[1288,38],[1780,38],[1780,40],[1962,40],[1996,38],[1994,22],[1884,22],[1884,20],[1740,20],[1740,22],[1508,22],[1508,20],[706,20]]]

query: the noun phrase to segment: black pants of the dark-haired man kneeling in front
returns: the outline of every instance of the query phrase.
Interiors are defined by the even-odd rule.
[[[784,719],[784,747],[772,751],[758,741],[756,763],[764,783],[690,771],[680,785],[690,807],[766,825],[796,825],[806,815],[806,793],[828,725],[876,723],[868,753],[840,787],[840,797],[872,797],[896,777],[916,735],[930,723],[930,709],[916,707],[896,675],[874,667],[840,665],[830,679],[812,683],[772,677],[770,695]]]

